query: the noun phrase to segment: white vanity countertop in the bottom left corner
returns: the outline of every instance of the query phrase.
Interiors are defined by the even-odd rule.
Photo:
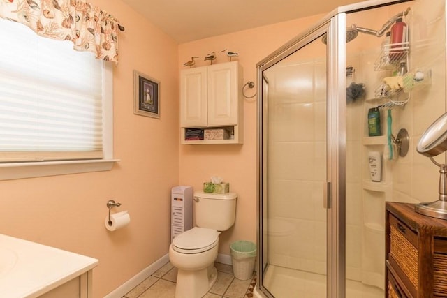
[[[85,255],[0,234],[1,297],[38,297],[97,265]]]

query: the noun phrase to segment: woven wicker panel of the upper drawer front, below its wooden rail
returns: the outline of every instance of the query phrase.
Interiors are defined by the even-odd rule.
[[[395,227],[390,227],[390,256],[418,289],[418,251]]]

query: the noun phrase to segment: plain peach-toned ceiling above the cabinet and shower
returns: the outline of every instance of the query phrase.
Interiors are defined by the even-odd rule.
[[[330,13],[337,6],[360,0],[122,1],[140,12],[177,43],[186,43],[299,17]]]

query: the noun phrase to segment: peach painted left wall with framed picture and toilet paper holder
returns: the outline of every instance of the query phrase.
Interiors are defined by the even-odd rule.
[[[115,15],[114,149],[111,171],[0,181],[0,233],[99,259],[94,297],[104,297],[168,253],[170,188],[178,184],[177,44],[122,1],[92,0]],[[161,119],[133,114],[133,70],[161,81]],[[108,200],[131,223],[108,232]]]

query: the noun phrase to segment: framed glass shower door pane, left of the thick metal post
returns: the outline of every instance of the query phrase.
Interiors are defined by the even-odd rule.
[[[261,290],[326,297],[327,55],[323,33],[262,71]]]

